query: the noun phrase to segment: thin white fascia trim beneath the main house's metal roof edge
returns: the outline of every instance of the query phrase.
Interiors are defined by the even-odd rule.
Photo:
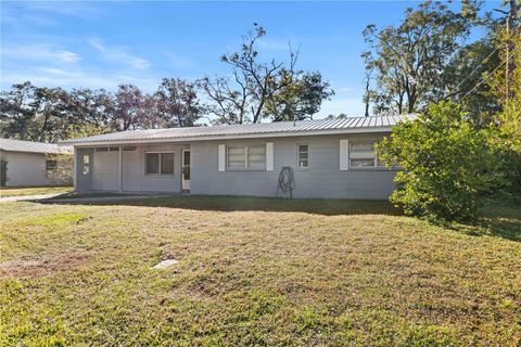
[[[306,137],[306,136],[321,136],[321,134],[344,134],[344,133],[378,133],[391,132],[391,127],[374,127],[374,128],[354,128],[354,129],[333,129],[333,130],[308,130],[308,131],[279,131],[279,132],[264,132],[264,133],[240,133],[240,134],[214,134],[214,136],[195,136],[195,137],[170,137],[162,139],[117,139],[117,140],[101,140],[101,141],[86,141],[86,142],[62,142],[61,144],[68,144],[73,146],[102,146],[110,144],[138,144],[138,143],[165,143],[165,142],[194,142],[194,141],[221,141],[234,139],[266,139],[266,138],[291,138],[291,137]]]

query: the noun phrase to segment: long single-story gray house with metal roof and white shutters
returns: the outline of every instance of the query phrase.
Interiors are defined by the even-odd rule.
[[[293,197],[386,198],[396,170],[374,143],[407,116],[352,117],[122,131],[69,140],[78,192],[277,196],[282,167]]]

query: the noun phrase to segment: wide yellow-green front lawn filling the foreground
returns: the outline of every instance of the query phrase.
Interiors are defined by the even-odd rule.
[[[521,208],[435,227],[382,202],[0,205],[1,346],[519,346]],[[160,260],[179,262],[152,269]]]

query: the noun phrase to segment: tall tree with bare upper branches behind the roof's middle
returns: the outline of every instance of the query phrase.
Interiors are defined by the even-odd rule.
[[[291,47],[288,62],[262,62],[257,43],[265,35],[266,30],[254,24],[254,30],[242,38],[241,50],[221,56],[220,61],[231,67],[231,78],[199,81],[212,102],[207,112],[217,117],[216,123],[303,119],[318,112],[322,100],[332,94],[319,73],[295,69],[298,51]]]

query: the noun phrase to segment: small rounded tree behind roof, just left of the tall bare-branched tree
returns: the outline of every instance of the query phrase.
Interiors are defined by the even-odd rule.
[[[201,117],[202,106],[193,82],[163,78],[154,100],[157,116],[164,127],[193,127]]]

